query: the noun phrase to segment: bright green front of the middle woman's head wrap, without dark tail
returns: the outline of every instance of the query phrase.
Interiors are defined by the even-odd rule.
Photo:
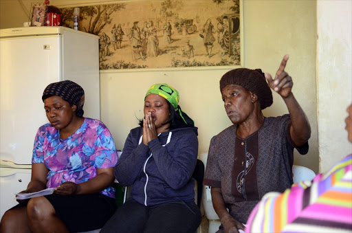
[[[146,91],[146,96],[148,96],[148,94],[157,94],[166,98],[166,100],[173,105],[175,111],[177,111],[177,106],[179,105],[179,92],[175,88],[166,83],[159,83],[151,86],[151,88]],[[144,98],[146,98],[146,96]]]

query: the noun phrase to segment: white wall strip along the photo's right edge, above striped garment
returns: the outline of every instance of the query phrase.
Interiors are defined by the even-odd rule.
[[[320,170],[352,152],[344,118],[352,102],[352,1],[318,1],[318,136]]]

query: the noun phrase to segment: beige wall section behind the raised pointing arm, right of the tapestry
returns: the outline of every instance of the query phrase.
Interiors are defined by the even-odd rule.
[[[295,151],[295,164],[318,172],[316,123],[316,1],[244,1],[245,67],[260,67],[275,74],[283,55],[289,54],[286,71],[292,89],[311,123],[309,153]],[[273,93],[274,104],[265,115],[283,115],[287,108]]]

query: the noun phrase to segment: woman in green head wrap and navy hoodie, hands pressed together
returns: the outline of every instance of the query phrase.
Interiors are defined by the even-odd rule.
[[[144,98],[144,119],[132,129],[114,175],[132,197],[101,232],[195,232],[201,213],[195,204],[197,128],[178,105],[169,85],[151,86]]]

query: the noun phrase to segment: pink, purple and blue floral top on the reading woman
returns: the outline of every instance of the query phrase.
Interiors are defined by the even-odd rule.
[[[85,118],[80,129],[64,140],[50,123],[36,133],[32,163],[44,163],[49,169],[47,188],[67,181],[80,184],[96,177],[96,168],[111,168],[117,162],[113,137],[100,120]],[[112,187],[100,193],[115,198]]]

